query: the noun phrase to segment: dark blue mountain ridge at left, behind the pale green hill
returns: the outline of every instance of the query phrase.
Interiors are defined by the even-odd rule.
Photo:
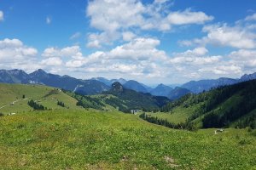
[[[26,74],[21,70],[1,70],[0,82],[6,83],[36,83],[44,84],[55,88],[63,88],[79,94],[101,94],[103,91],[107,91],[110,88],[103,82],[96,80],[81,80],[68,76],[59,76],[51,73],[47,73],[42,69],[33,71],[30,74]]]

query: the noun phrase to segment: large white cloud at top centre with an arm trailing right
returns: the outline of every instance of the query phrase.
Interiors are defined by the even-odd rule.
[[[100,33],[90,33],[87,47],[100,48],[102,43],[109,44],[120,37],[131,41],[131,37],[134,38],[132,29],[169,31],[172,26],[204,24],[213,20],[212,16],[189,8],[170,12],[166,3],[169,1],[158,0],[148,4],[138,0],[90,1],[86,14],[90,18],[90,26]]]

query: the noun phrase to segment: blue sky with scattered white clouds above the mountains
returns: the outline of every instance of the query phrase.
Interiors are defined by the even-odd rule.
[[[146,84],[256,72],[255,0],[0,0],[0,69]]]

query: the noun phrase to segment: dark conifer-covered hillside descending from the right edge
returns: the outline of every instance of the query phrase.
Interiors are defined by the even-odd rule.
[[[153,116],[198,127],[256,127],[256,80],[188,94]],[[185,125],[183,125],[185,126]]]

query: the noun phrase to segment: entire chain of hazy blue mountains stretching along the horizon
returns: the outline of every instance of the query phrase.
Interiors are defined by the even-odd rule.
[[[113,82],[119,82],[124,88],[131,89],[140,93],[149,93],[154,96],[165,96],[169,99],[179,99],[185,94],[199,94],[208,91],[211,88],[218,88],[224,85],[236,84],[256,79],[256,73],[245,74],[239,79],[221,77],[218,79],[200,80],[186,82],[180,87],[170,87],[160,83],[156,88],[151,88],[141,82],[135,80],[125,80],[123,78],[108,80],[104,77],[93,77],[89,80],[77,79],[74,77],[59,76],[47,73],[42,69],[38,69],[30,74],[22,70],[0,70],[0,82],[5,83],[36,83],[44,84],[55,88],[63,88],[73,91],[74,93],[92,95],[102,94],[111,89]]]

